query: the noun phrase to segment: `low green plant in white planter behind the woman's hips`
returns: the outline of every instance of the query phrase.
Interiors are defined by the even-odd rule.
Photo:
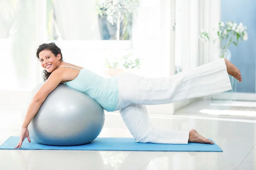
[[[142,59],[132,57],[131,53],[124,55],[121,58],[105,59],[107,70],[106,74],[115,76],[117,74],[129,72],[137,73],[140,69]]]

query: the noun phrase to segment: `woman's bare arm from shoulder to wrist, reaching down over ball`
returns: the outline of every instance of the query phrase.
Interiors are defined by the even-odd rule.
[[[60,71],[59,69],[53,71],[52,74],[49,76],[48,80],[38,90],[38,92],[32,99],[32,102],[29,105],[22,127],[28,127],[29,123],[32,121],[33,117],[38,112],[44,100],[62,81],[64,81],[64,72]]]

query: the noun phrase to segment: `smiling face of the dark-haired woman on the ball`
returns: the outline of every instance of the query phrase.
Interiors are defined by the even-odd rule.
[[[41,66],[48,72],[55,71],[61,63],[61,54],[55,56],[50,50],[43,50],[39,53]]]

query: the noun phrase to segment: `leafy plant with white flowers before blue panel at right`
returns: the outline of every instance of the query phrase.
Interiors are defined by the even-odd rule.
[[[206,42],[210,40],[209,34],[202,30],[199,35],[200,40]],[[220,40],[221,45],[219,49],[219,56],[221,58],[231,59],[231,52],[228,49],[231,44],[238,45],[239,41],[247,41],[247,27],[243,26],[243,23],[234,23],[232,21],[227,21],[226,23],[221,22],[218,24],[217,28],[217,38],[213,40]]]

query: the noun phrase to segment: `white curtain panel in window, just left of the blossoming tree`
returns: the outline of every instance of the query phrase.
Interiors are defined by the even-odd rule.
[[[55,0],[54,17],[61,40],[99,40],[95,0]]]

